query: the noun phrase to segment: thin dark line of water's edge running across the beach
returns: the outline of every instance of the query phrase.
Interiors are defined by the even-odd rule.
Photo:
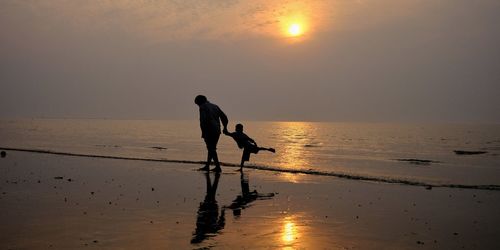
[[[67,152],[57,152],[50,150],[41,149],[23,149],[23,148],[6,148],[0,147],[0,150],[11,150],[20,152],[30,152],[39,154],[52,154],[52,155],[64,155],[64,156],[75,156],[75,157],[89,157],[89,158],[105,158],[105,159],[117,159],[117,160],[131,160],[131,161],[152,161],[152,162],[171,162],[171,163],[184,163],[184,164],[204,164],[204,161],[189,161],[189,160],[169,160],[169,159],[150,159],[150,158],[138,158],[138,157],[124,157],[124,156],[109,156],[109,155],[91,155],[91,154],[77,154],[77,153],[67,153]],[[222,166],[227,167],[239,167],[238,164],[221,162]],[[500,185],[464,185],[464,184],[429,184],[419,181],[394,179],[394,178],[380,178],[371,176],[360,176],[352,174],[342,174],[335,172],[322,172],[318,170],[300,170],[300,169],[282,169],[276,167],[266,167],[266,166],[255,166],[249,165],[245,168],[282,172],[282,173],[292,173],[292,174],[307,174],[307,175],[318,175],[318,176],[333,176],[342,179],[349,180],[360,180],[360,181],[373,181],[381,183],[391,183],[391,184],[402,184],[410,186],[422,186],[422,187],[442,187],[442,188],[460,188],[460,189],[477,189],[477,190],[495,190],[500,191]]]

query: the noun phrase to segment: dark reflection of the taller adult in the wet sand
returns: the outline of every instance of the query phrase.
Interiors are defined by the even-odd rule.
[[[219,184],[220,173],[215,173],[214,182],[210,181],[210,173],[205,173],[207,182],[207,193],[205,199],[198,208],[198,217],[196,219],[196,229],[193,232],[192,244],[201,243],[205,239],[215,236],[222,230],[226,224],[224,208],[219,215],[219,205],[215,200],[217,185]]]

